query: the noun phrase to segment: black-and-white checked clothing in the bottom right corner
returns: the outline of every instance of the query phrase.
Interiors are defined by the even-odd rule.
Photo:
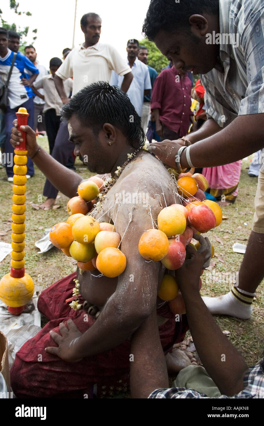
[[[264,360],[262,360],[262,363]],[[163,399],[198,399],[209,397],[205,394],[194,389],[185,389],[185,388],[169,388],[169,389],[157,389],[152,394],[149,395],[149,398],[163,398]],[[264,371],[261,364],[250,367],[244,377],[244,389],[239,392],[239,394],[234,395],[233,397],[227,397],[226,395],[220,395],[219,397],[214,397],[213,399],[236,399],[236,398],[264,398]]]

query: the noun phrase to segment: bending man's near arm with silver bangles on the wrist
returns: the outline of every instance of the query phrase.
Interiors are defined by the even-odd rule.
[[[210,122],[209,122],[210,121]],[[209,123],[208,123],[209,122]],[[190,149],[190,158],[194,167],[214,167],[233,163],[264,147],[264,113],[239,115],[225,129],[218,131],[218,124],[208,120],[193,135],[188,136],[192,143],[202,136],[202,132],[215,130],[216,134],[200,140]],[[218,129],[218,130],[217,130]],[[201,131],[201,132],[200,132]],[[214,132],[214,133],[215,133]],[[212,133],[211,133],[212,134]],[[148,150],[170,167],[175,167],[175,156],[183,141],[163,141],[152,143]],[[188,167],[186,150],[181,156],[182,168]]]

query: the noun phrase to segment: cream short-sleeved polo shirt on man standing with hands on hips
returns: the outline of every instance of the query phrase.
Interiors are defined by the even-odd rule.
[[[109,44],[98,42],[85,48],[82,43],[67,55],[56,75],[62,80],[73,77],[74,95],[96,81],[110,82],[112,71],[124,76],[131,72],[131,69],[118,51]]]

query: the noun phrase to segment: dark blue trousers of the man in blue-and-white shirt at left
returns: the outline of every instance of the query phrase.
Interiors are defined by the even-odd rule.
[[[10,143],[10,135],[11,135],[11,129],[13,127],[13,121],[15,120],[15,118],[17,118],[16,116],[16,112],[18,111],[18,108],[23,107],[26,108],[28,111],[28,126],[30,126],[31,128],[33,128],[34,126],[34,102],[33,102],[33,98],[28,99],[28,101],[24,102],[24,104],[19,105],[16,108],[10,108],[7,107],[6,109],[6,154],[9,154],[9,158],[11,158],[11,155],[14,155],[14,148],[12,147],[11,143]],[[12,161],[13,163],[13,161]],[[27,175],[30,176],[34,176],[34,164],[33,161],[28,157],[28,161],[27,161],[27,167],[28,167],[28,171],[27,171]],[[6,174],[8,176],[8,178],[11,178],[14,176],[14,172],[13,172],[13,166],[10,166],[9,164],[6,164]]]

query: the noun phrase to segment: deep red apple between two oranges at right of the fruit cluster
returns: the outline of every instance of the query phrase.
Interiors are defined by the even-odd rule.
[[[207,208],[205,209],[205,207]],[[188,213],[188,220],[190,225],[201,233],[205,233],[216,226],[216,217],[206,205],[192,208]]]

